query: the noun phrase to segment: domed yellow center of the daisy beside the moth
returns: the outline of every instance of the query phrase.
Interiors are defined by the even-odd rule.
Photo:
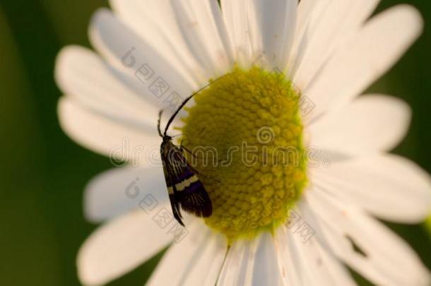
[[[182,139],[213,203],[206,225],[232,242],[287,222],[307,183],[292,83],[261,68],[235,68],[195,100]]]

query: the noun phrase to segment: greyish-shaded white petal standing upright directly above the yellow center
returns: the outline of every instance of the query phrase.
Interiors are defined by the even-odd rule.
[[[264,59],[257,59],[254,64],[284,71],[295,33],[297,0],[253,0],[251,4],[258,29],[253,51],[264,55]]]

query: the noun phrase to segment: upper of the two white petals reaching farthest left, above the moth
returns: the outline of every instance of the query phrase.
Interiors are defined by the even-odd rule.
[[[55,76],[64,93],[97,112],[115,114],[153,131],[158,118],[156,106],[162,105],[157,105],[148,90],[134,93],[129,89],[131,85],[126,86],[120,79],[126,75],[115,72],[114,67],[83,47],[66,47],[57,56]],[[138,79],[133,82],[138,83]],[[136,89],[146,90],[142,85]]]

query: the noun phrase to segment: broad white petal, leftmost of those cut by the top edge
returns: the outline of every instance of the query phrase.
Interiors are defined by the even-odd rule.
[[[196,61],[184,42],[170,0],[110,0],[110,4],[119,18],[172,66],[197,83],[206,83],[211,74]],[[97,37],[93,41],[98,42]]]

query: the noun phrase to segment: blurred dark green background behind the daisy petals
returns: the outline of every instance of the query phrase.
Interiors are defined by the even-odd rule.
[[[431,2],[382,0],[378,10],[403,2],[423,13],[425,33],[370,90],[411,105],[411,131],[394,152],[431,172]],[[76,252],[96,227],[83,218],[83,188],[112,166],[59,128],[53,70],[61,47],[89,47],[90,16],[101,6],[107,1],[0,0],[0,285],[79,285]],[[424,225],[390,226],[431,268]],[[142,285],[156,261],[112,285]]]

